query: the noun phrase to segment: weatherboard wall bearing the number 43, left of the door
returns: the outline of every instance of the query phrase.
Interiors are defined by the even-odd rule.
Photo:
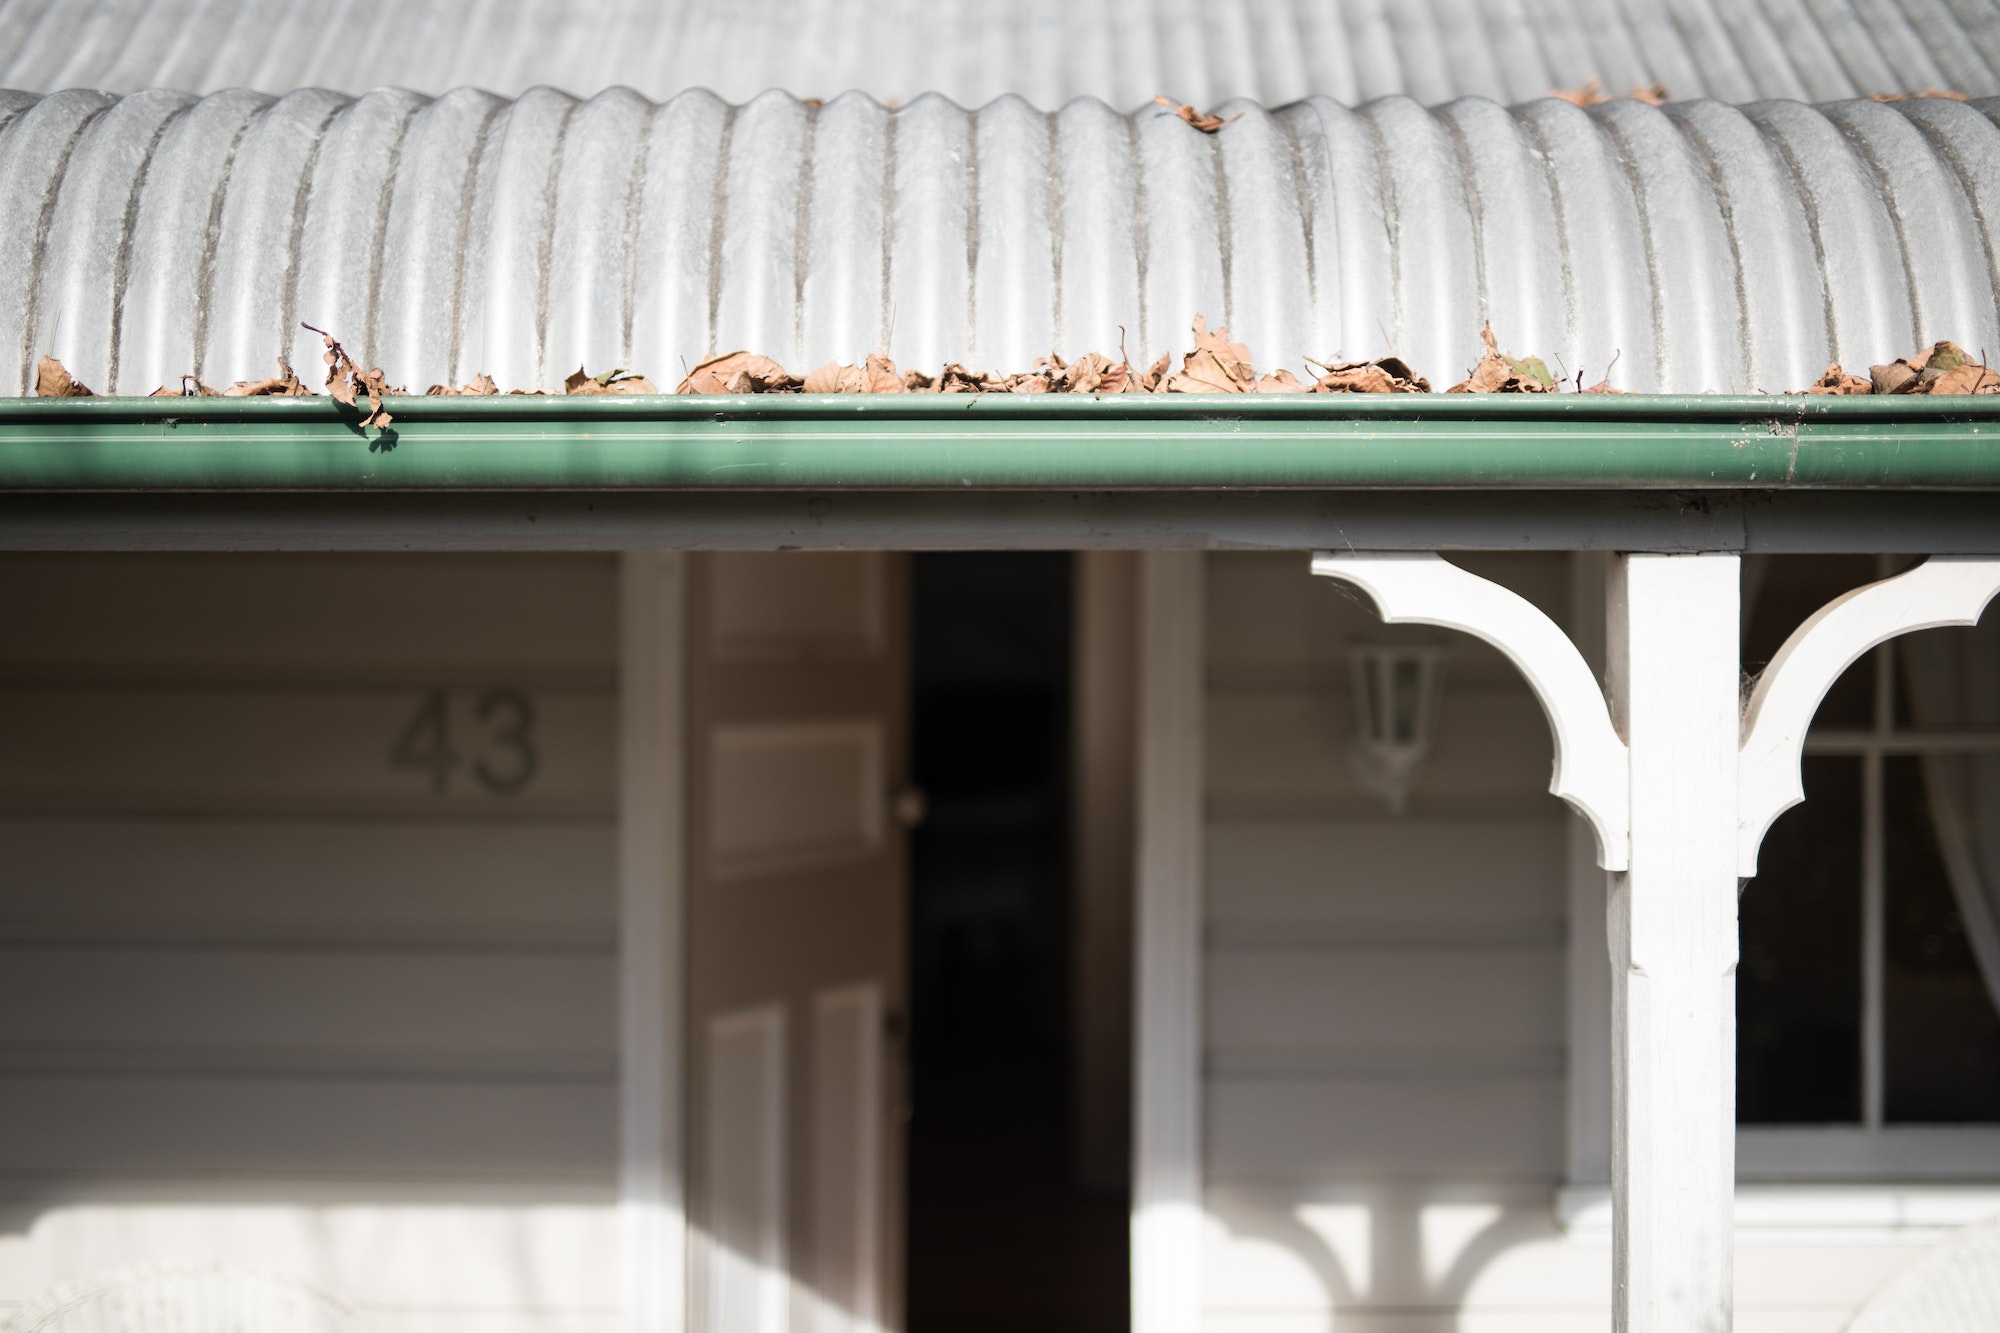
[[[614,731],[610,558],[0,560],[0,1319],[610,1333]]]

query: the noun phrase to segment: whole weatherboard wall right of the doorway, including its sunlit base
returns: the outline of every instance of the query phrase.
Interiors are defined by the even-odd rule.
[[[1454,560],[1572,624],[1568,556]],[[1206,604],[1204,1327],[1610,1329],[1608,1229],[1554,1211],[1574,831],[1534,697],[1304,552],[1208,556]],[[1452,650],[1402,817],[1346,767],[1346,648],[1390,640]],[[1826,1235],[1740,1225],[1740,1333],[1838,1331],[1936,1229]]]

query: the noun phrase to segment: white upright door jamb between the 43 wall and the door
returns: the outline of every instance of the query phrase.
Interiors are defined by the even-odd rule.
[[[686,556],[618,564],[618,1243],[622,1333],[686,1329],[682,951]]]

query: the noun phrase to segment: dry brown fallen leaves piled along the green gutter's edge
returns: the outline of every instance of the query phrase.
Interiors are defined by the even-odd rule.
[[[310,324],[306,328],[312,328]],[[320,328],[312,328],[326,342],[322,360],[326,362],[326,392],[360,416],[362,428],[386,428],[394,418],[384,406],[386,398],[408,394],[408,388],[392,386],[388,376],[376,370],[362,370],[340,342]],[[1014,374],[992,374],[968,370],[952,362],[938,374],[922,370],[900,370],[888,352],[870,352],[860,364],[826,362],[818,370],[798,376],[770,356],[756,352],[722,352],[694,366],[674,388],[676,394],[1428,394],[1430,380],[1416,374],[1400,356],[1378,356],[1376,360],[1346,360],[1326,364],[1306,360],[1306,376],[1290,370],[1260,374],[1250,358],[1250,348],[1230,340],[1228,328],[1208,328],[1200,314],[1192,324],[1194,348],[1182,352],[1180,368],[1172,356],[1160,356],[1140,370],[1130,362],[1124,348],[1118,360],[1104,352],[1086,352],[1072,360],[1058,354],[1042,356],[1032,370]],[[1606,378],[1584,386],[1578,372],[1574,388],[1548,370],[1540,356],[1514,356],[1500,350],[1492,326],[1480,330],[1486,350],[1466,378],[1452,384],[1450,394],[1618,394]],[[1616,358],[1614,358],[1616,360]],[[494,396],[500,386],[492,376],[476,374],[468,384],[432,384],[426,396]],[[508,394],[536,394],[544,390],[510,388]],[[654,394],[658,388],[644,374],[626,368],[588,374],[582,366],[562,382],[564,394]],[[1988,368],[1984,352],[1974,360],[1956,342],[1934,342],[1912,356],[1892,360],[1884,366],[1870,366],[1866,376],[1848,374],[1838,362],[1826,368],[1818,380],[1806,386],[1808,394],[2000,394],[2000,372]],[[78,382],[60,360],[44,356],[36,366],[34,394],[38,398],[94,398],[96,394]],[[314,396],[314,390],[300,382],[284,360],[278,374],[264,380],[236,380],[228,388],[210,388],[200,378],[184,374],[180,384],[168,384],[152,392],[158,396],[186,398],[264,398],[264,396]],[[366,402],[364,402],[366,400]]]

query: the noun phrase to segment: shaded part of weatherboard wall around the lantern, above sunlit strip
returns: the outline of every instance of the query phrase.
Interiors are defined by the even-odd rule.
[[[1464,556],[1566,616],[1566,558]],[[1562,1169],[1564,821],[1496,652],[1384,626],[1298,554],[1208,556],[1210,1183],[1546,1181]],[[1348,648],[1446,648],[1390,815],[1348,765]]]

